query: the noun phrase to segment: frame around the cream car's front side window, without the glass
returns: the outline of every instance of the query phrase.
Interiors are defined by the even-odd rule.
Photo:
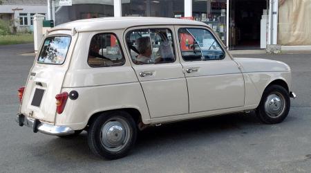
[[[217,42],[217,44],[220,46],[220,49],[221,49],[221,51],[223,51],[224,56],[222,58],[220,58],[220,59],[214,59],[214,60],[193,60],[193,61],[185,60],[184,57],[182,56],[182,52],[183,51],[181,50],[181,45],[180,45],[180,41],[181,41],[180,40],[180,36],[179,36],[180,29],[202,29],[202,30],[207,30],[211,34],[211,36],[214,38],[214,40]],[[223,45],[219,42],[218,37],[216,37],[216,35],[213,33],[213,31],[211,31],[209,28],[205,28],[205,27],[202,27],[202,26],[189,26],[189,27],[187,27],[187,26],[178,26],[178,30],[176,30],[176,31],[177,31],[178,44],[179,44],[178,48],[179,48],[179,51],[180,51],[180,56],[182,58],[182,61],[184,61],[184,62],[207,62],[207,61],[225,60],[225,58],[227,56],[227,52],[224,50]]]

